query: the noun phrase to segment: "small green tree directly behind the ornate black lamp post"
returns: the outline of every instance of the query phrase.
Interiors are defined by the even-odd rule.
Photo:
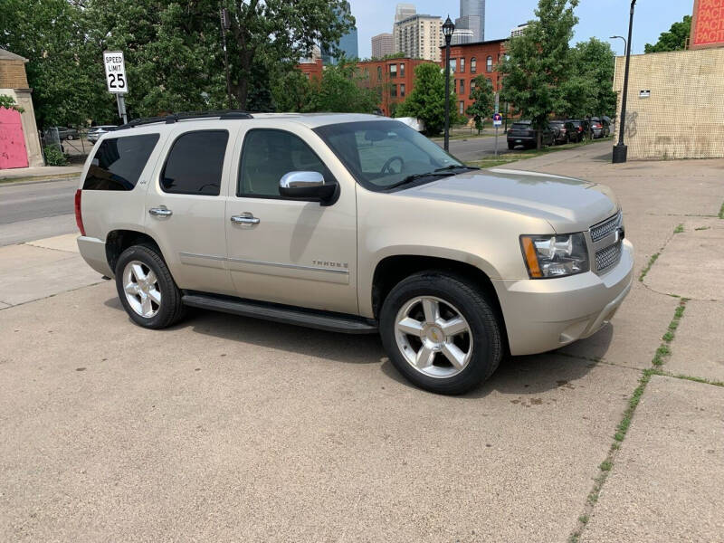
[[[452,83],[451,73],[451,83]],[[464,122],[455,109],[454,85],[450,85],[450,124]],[[445,128],[445,76],[438,64],[424,62],[414,69],[414,89],[396,110],[397,117],[414,117],[424,122],[427,135]]]

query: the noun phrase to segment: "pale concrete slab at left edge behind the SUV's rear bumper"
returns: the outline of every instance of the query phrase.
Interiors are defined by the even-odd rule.
[[[0,309],[101,281],[81,258],[77,236],[69,233],[0,247]]]

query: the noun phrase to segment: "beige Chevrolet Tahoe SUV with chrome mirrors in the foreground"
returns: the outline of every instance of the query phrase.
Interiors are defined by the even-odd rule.
[[[467,167],[374,115],[131,122],[90,153],[75,214],[83,259],[139,326],[190,306],[379,333],[403,376],[443,394],[506,353],[591,336],[633,278],[609,188]]]

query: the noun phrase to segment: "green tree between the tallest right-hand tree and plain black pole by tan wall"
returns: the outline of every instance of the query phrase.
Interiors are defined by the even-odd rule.
[[[596,38],[576,43],[571,54],[571,74],[561,84],[567,117],[614,116],[615,54],[611,45]]]

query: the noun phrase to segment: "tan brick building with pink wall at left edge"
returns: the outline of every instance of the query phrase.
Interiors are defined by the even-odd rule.
[[[19,113],[0,108],[0,169],[43,166],[25,62],[19,54],[0,49],[0,94],[10,96],[23,109]]]

